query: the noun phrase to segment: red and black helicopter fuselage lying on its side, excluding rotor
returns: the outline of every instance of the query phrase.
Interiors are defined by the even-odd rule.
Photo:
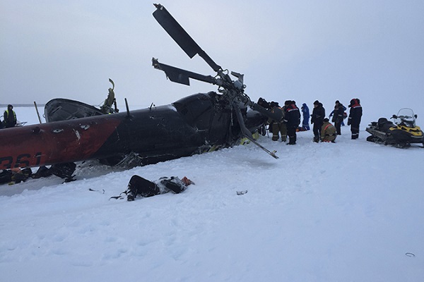
[[[232,115],[210,92],[171,105],[8,128],[0,130],[0,169],[87,159],[116,164],[131,153],[139,164],[153,164],[199,154],[241,137]],[[252,132],[266,119],[256,111],[245,118]]]

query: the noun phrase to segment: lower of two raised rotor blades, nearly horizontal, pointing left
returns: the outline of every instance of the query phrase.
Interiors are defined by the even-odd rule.
[[[193,78],[195,80],[208,82],[213,85],[220,85],[221,80],[217,80],[213,78],[211,75],[201,75],[199,73],[193,73],[192,71],[186,71],[181,68],[175,68],[175,66],[168,66],[165,63],[159,63],[158,59],[152,59],[152,66],[160,71],[163,71],[167,78],[172,82],[181,83],[184,85],[190,85],[189,78]]]

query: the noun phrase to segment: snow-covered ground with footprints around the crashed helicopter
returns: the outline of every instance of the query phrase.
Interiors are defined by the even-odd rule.
[[[37,123],[32,108],[16,112]],[[249,144],[1,185],[0,280],[424,281],[424,149],[366,142],[369,122],[359,140],[343,127],[336,144],[311,131],[295,146],[261,137],[277,160]],[[110,199],[134,174],[196,185]]]

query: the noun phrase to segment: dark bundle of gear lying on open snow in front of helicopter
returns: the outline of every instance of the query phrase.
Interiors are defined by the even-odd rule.
[[[167,192],[179,194],[191,184],[194,184],[194,182],[185,176],[182,179],[177,178],[177,176],[171,176],[150,181],[141,176],[134,175],[129,180],[128,189],[123,193],[126,193],[126,200],[134,201],[137,195],[141,195],[141,197],[152,197]]]

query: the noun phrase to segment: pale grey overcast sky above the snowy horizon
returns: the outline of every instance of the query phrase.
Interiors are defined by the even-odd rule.
[[[254,101],[312,106],[319,99],[331,111],[336,99],[358,97],[364,111],[424,111],[422,0],[160,4],[216,63],[245,74]],[[109,78],[122,109],[124,97],[131,108],[216,90],[204,82],[179,85],[153,69],[155,57],[214,75],[160,27],[153,2],[0,0],[0,11],[0,104],[61,97],[99,105]]]

